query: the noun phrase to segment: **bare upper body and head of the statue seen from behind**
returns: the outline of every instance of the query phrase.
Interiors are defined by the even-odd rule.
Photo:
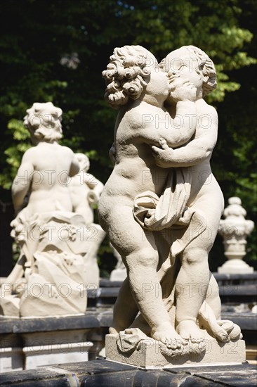
[[[24,125],[32,143],[22,157],[13,181],[12,196],[15,212],[24,206],[29,194],[27,215],[54,210],[72,211],[67,183],[79,172],[79,163],[67,146],[58,144],[62,137],[62,110],[53,103],[34,103],[27,110]]]

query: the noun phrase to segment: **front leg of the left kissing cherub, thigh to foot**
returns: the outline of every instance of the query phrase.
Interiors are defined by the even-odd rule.
[[[114,208],[115,205],[112,208],[113,216],[115,216]],[[147,232],[143,237],[144,231],[134,220],[131,206],[119,207],[117,212],[115,220],[110,220],[109,214],[108,221],[109,224],[116,226],[117,220],[119,220],[119,234],[117,234],[116,227],[114,229],[110,227],[107,229],[107,232],[112,245],[119,251],[128,269],[129,286],[138,310],[140,310],[150,325],[152,338],[162,341],[162,343],[169,343],[171,348],[180,348],[183,340],[174,329],[173,324],[171,324],[169,313],[162,300],[162,292],[159,291],[159,279],[157,277],[159,255],[155,246],[154,236]],[[123,221],[120,222],[120,220]],[[131,315],[126,319],[127,322],[123,321],[121,323],[122,314],[124,315],[124,303],[122,300],[125,300],[127,286],[128,283],[125,282],[121,289],[121,296],[115,306],[112,331],[124,329],[125,324],[128,324],[126,326],[128,328],[131,323],[129,319],[136,311],[132,307]]]

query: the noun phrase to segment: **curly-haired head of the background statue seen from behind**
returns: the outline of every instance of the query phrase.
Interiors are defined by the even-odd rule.
[[[27,109],[24,125],[32,136],[32,142],[53,142],[62,138],[62,109],[53,106],[53,103],[33,103]]]

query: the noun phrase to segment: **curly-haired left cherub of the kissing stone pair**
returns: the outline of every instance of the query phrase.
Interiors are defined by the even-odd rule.
[[[187,80],[180,82],[176,115],[171,118],[164,108],[171,92],[168,77],[152,53],[141,46],[114,49],[103,77],[107,82],[105,99],[119,113],[111,152],[115,153],[114,170],[100,196],[98,211],[100,224],[128,272],[110,332],[128,328],[140,310],[153,338],[180,348],[182,339],[171,323],[162,293],[145,293],[143,289],[145,282],[159,284],[160,262],[154,231],[136,220],[135,198],[145,192],[158,198],[164,191],[169,170],[157,165],[152,146],[158,146],[162,137],[171,147],[190,141],[196,127],[196,89]]]

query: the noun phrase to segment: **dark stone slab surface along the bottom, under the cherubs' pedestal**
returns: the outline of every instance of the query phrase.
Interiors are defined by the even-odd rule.
[[[19,387],[256,387],[257,372],[249,364],[139,369],[108,360],[53,365],[0,375],[0,386]]]

